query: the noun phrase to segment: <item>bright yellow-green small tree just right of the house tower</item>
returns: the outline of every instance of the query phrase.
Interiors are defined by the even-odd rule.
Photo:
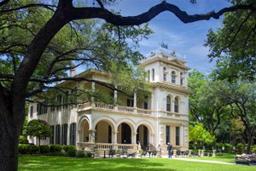
[[[189,141],[198,142],[200,144],[206,143],[209,145],[215,141],[215,137],[203,128],[201,123],[196,123],[195,126],[189,125]]]

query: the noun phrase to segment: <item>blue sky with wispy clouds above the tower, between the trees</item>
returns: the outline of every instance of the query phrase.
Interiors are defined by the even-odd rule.
[[[186,11],[188,14],[205,14],[212,10],[218,11],[224,7],[229,7],[230,3],[225,0],[197,0],[197,3],[189,3],[189,0],[166,0],[167,3],[177,5],[179,9]],[[142,14],[161,0],[122,0],[115,10],[120,9],[123,16],[132,16]],[[113,7],[112,7],[113,9]],[[151,50],[159,48],[159,43],[164,40],[169,49],[174,49],[182,57],[185,55],[187,66],[204,73],[210,73],[214,68],[215,62],[209,63],[207,54],[209,48],[203,46],[207,40],[207,32],[212,28],[216,31],[221,27],[223,17],[218,20],[203,20],[194,23],[184,24],[177,17],[170,13],[164,12],[149,21],[149,28],[154,33],[140,43],[139,51],[142,54],[148,54]]]

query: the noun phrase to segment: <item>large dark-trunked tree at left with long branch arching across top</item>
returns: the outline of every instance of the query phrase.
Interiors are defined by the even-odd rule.
[[[107,55],[108,45],[113,45],[113,48],[110,49],[120,49],[125,54],[132,54],[131,48],[123,47],[125,45],[125,37],[128,34],[127,36],[137,46],[136,43],[140,38],[137,36],[145,30],[146,33],[144,35],[147,36],[147,28],[140,28],[139,25],[148,22],[163,11],[175,14],[183,23],[209,20],[211,18],[218,19],[224,13],[234,12],[238,9],[256,11],[253,3],[250,3],[237,4],[230,8],[221,9],[217,13],[212,11],[207,14],[189,15],[177,8],[177,6],[162,1],[146,13],[123,17],[105,8],[106,5],[114,5],[115,0],[96,0],[96,4],[89,3],[86,7],[77,6],[77,2],[73,0],[59,0],[56,3],[53,1],[52,4],[47,4],[48,1],[39,0],[3,0],[0,2],[0,35],[3,36],[1,37],[2,46],[0,50],[1,170],[17,170],[18,141],[26,115],[26,100],[30,100],[29,98],[33,95],[47,90],[55,82],[65,80],[81,81],[81,79],[76,80],[75,77],[67,77],[66,71],[83,65],[84,61],[87,61],[86,66],[90,67],[102,66],[101,64],[108,60],[118,59],[119,55],[117,53],[116,55]],[[195,3],[195,1],[192,2]],[[42,18],[43,20],[44,18],[42,11],[46,11],[49,18],[45,18],[44,22],[41,23],[40,19]],[[97,30],[96,27],[88,28],[86,22],[96,18],[105,20],[113,26],[107,27],[107,30],[101,30],[100,28]],[[84,21],[80,21],[82,19]],[[83,24],[77,26],[76,22],[73,22],[74,20]],[[70,29],[67,29],[67,26],[70,26]],[[13,28],[20,28],[21,30],[15,31],[15,29],[12,30]],[[66,31],[74,37],[64,39],[63,41],[66,41],[66,43],[61,44],[57,41],[58,37],[66,35]],[[81,32],[79,33],[79,31]],[[96,32],[90,36],[88,31]],[[30,32],[31,36],[27,36],[27,32]],[[15,33],[20,33],[17,35],[24,37],[15,37]],[[106,43],[103,40],[102,43],[95,41],[97,40],[95,37],[101,35],[102,38],[105,37],[103,40],[106,40]],[[80,43],[79,41],[83,39],[77,37],[85,38],[85,44]],[[112,37],[109,40],[110,42],[108,42],[108,37]],[[90,42],[91,38],[93,41]],[[18,43],[15,40],[18,40]],[[5,42],[7,43],[4,45]],[[55,44],[59,43],[58,46],[50,46],[54,42]],[[99,46],[97,46],[97,43],[99,43]],[[82,44],[82,47],[79,44]],[[74,47],[70,48],[73,45]],[[92,54],[98,54],[96,55],[98,58],[92,58],[88,51],[84,51],[84,47],[87,50],[90,49]],[[101,57],[101,52],[106,55]],[[127,55],[127,57],[129,56],[131,55]],[[121,55],[119,61],[125,61],[126,59],[125,55]],[[137,61],[138,59],[136,57],[130,60]],[[73,64],[71,61],[79,62],[79,64]],[[84,78],[84,81],[91,82],[93,80]]]

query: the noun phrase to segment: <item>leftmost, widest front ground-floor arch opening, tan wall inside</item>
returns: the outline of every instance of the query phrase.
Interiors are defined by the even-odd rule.
[[[113,128],[106,121],[100,121],[96,124],[96,142],[97,143],[112,143]]]

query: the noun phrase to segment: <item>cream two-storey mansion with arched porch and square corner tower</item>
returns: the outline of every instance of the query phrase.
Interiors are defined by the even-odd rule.
[[[42,119],[49,123],[53,136],[41,140],[41,144],[77,145],[79,149],[90,151],[94,146],[99,149],[144,150],[160,145],[166,154],[167,143],[174,149],[186,151],[189,148],[189,90],[187,72],[189,68],[184,59],[175,51],[160,46],[151,51],[141,65],[148,71],[147,81],[152,88],[148,100],[137,100],[112,91],[94,82],[84,82],[84,88],[101,89],[113,95],[123,105],[98,103],[93,98],[81,105],[62,105],[44,107],[30,103],[28,121]],[[106,74],[90,70],[76,77],[93,78],[104,81]],[[65,83],[65,82],[64,82]],[[78,83],[68,82],[75,88]],[[65,98],[56,95],[63,103]],[[30,143],[37,143],[29,137]]]

